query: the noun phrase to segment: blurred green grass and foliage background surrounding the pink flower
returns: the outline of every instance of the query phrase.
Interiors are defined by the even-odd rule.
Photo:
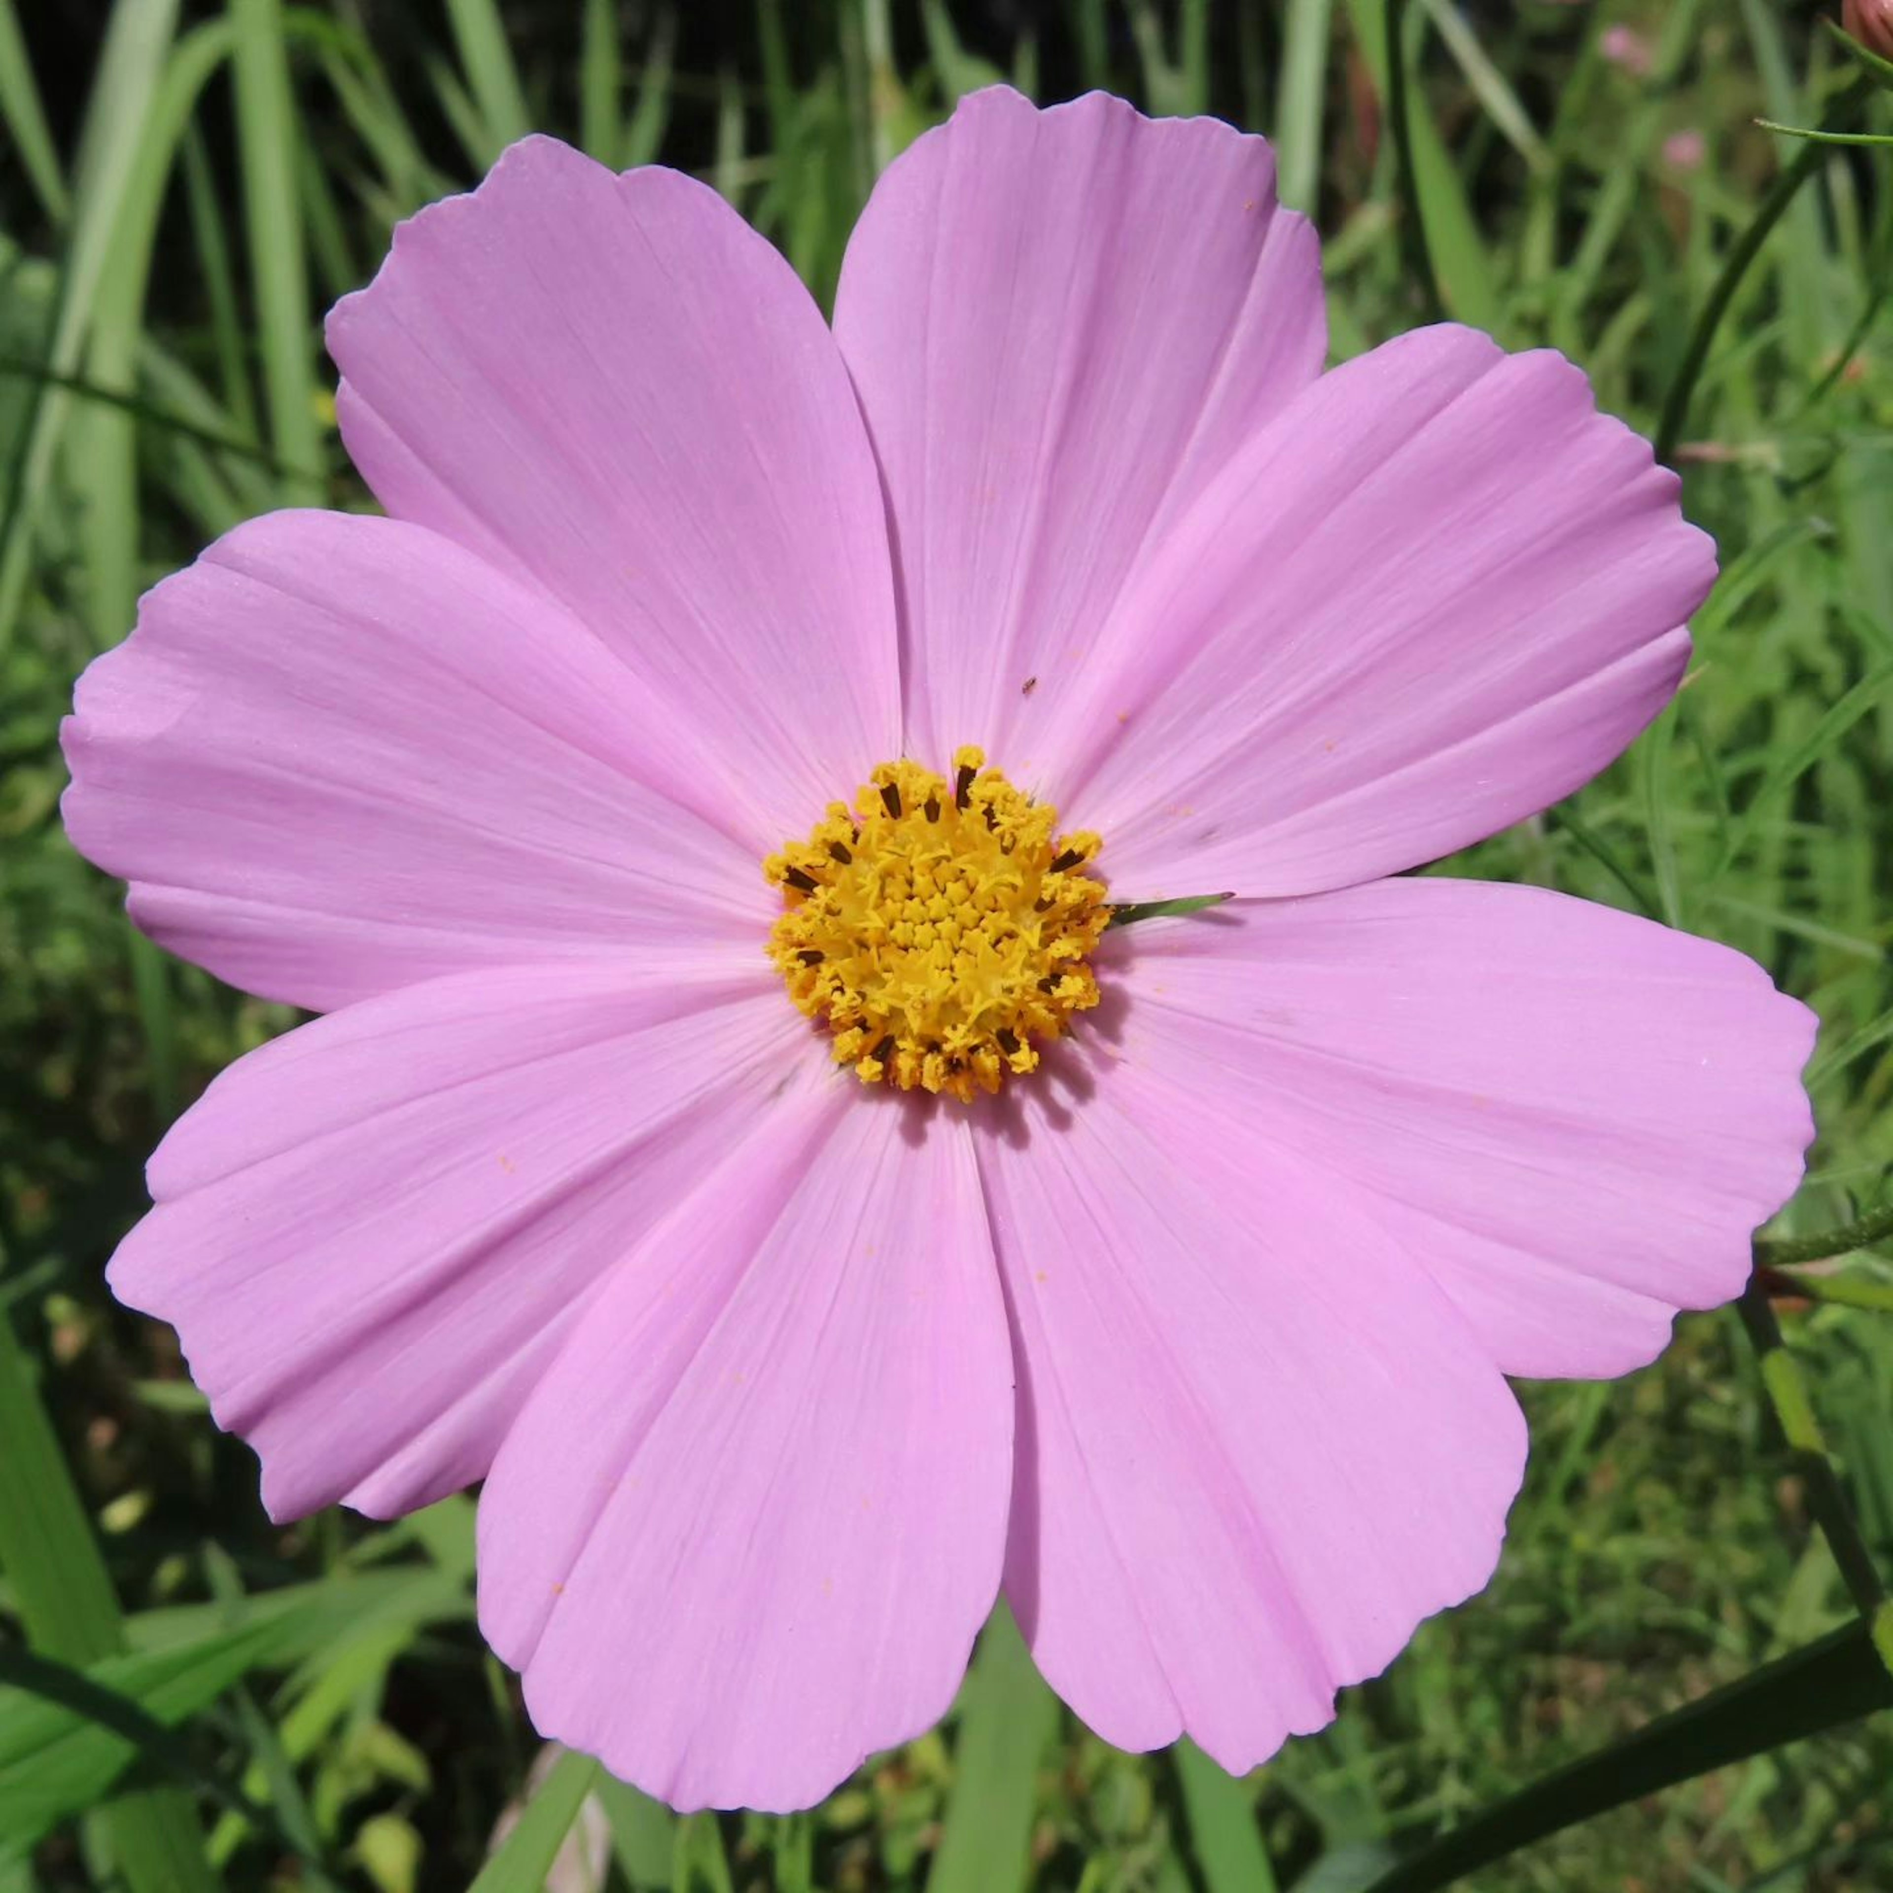
[[[1813,123],[1838,81],[1813,11],[1414,0],[1414,178],[1446,307],[1509,346],[1562,348],[1649,430],[1785,161],[1753,121]],[[1382,0],[0,0],[0,1312],[21,1342],[0,1333],[0,1620],[142,1717],[87,1721],[0,1683],[0,1893],[460,1889],[538,1751],[471,1628],[469,1501],[273,1528],[168,1333],[102,1285],[165,1123],[292,1018],[127,929],[119,890],[61,835],[57,721],[136,593],[206,540],[271,505],[363,504],[322,307],[398,218],[530,127],[706,176],[825,299],[876,170],[1005,76],[1268,131],[1287,199],[1329,240],[1348,356],[1422,309],[1388,53]],[[1456,863],[1726,939],[1819,1009],[1821,1140],[1783,1227],[1872,1204],[1889,1162],[1889,263],[1884,153],[1834,150],[1689,415],[1687,505],[1725,577],[1687,689],[1571,805]],[[1874,1257],[1849,1266],[1889,1280]],[[1885,1567],[1893,1327],[1844,1304],[1787,1321]],[[1342,1893],[1395,1844],[1848,1620],[1732,1318],[1685,1319],[1632,1380],[1526,1401],[1533,1465],[1492,1590],[1247,1781],[1092,1740],[1000,1622],[960,1713],[806,1817],[676,1823],[541,1757],[481,1889],[541,1884],[570,1827],[560,1889]],[[0,1658],[17,1649],[8,1636]],[[1477,1885],[1887,1885],[1889,1779],[1880,1717]]]

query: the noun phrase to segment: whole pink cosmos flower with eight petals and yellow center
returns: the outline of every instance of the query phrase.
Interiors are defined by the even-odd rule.
[[[271,1513],[485,1478],[534,1721],[680,1806],[926,1728],[1001,1590],[1115,1743],[1325,1725],[1490,1577],[1505,1376],[1800,1172],[1751,962],[1403,878],[1670,699],[1675,479],[1554,354],[1323,373],[1268,146],[1100,97],[924,136],[833,331],[532,138],[327,335],[390,517],[220,540],[66,736],[138,924],[329,1015],[112,1265]]]

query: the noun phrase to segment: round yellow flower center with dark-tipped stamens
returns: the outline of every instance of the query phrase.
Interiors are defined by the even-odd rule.
[[[808,840],[763,863],[784,897],[769,958],[867,1085],[971,1100],[1035,1070],[1039,1045],[1098,1003],[1102,844],[1056,835],[1058,810],[984,761],[958,750],[950,786],[882,763],[854,808],[829,803]]]

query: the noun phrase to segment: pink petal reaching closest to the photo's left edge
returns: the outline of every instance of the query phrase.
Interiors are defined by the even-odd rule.
[[[755,856],[543,593],[386,519],[273,513],[148,593],[64,731],[74,842],[174,952],[297,1005],[462,967],[748,943]]]

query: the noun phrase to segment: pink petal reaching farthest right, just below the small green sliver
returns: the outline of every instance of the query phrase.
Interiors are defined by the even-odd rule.
[[[1369,1206],[1509,1374],[1653,1359],[1800,1179],[1815,1018],[1713,941],[1435,878],[1138,935],[1124,1054]]]

